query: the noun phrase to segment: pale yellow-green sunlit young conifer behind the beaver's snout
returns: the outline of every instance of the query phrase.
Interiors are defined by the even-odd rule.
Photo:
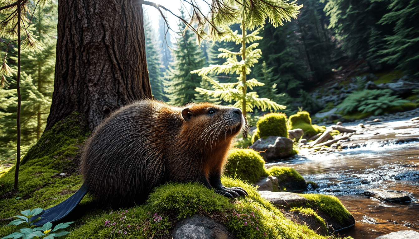
[[[218,57],[227,59],[224,64],[210,65],[209,67],[192,71],[192,73],[197,73],[207,79],[215,88],[215,90],[206,90],[201,87],[197,87],[196,90],[203,95],[210,95],[214,98],[222,98],[228,102],[235,102],[233,106],[240,107],[242,109],[243,116],[245,117],[247,112],[252,112],[255,107],[261,108],[263,111],[266,111],[267,109],[285,109],[284,105],[279,105],[267,98],[259,98],[259,95],[257,95],[256,92],[247,92],[247,87],[253,89],[255,86],[264,85],[256,79],[246,79],[246,75],[251,72],[250,68],[258,62],[258,59],[262,54],[260,49],[256,49],[256,47],[259,46],[259,43],[253,43],[247,47],[246,43],[252,43],[253,41],[261,39],[261,37],[258,36],[260,28],[247,34],[245,21],[243,19],[241,20],[241,29],[242,34],[239,35],[238,31],[232,31],[228,26],[224,26],[224,30],[227,34],[221,38],[221,41],[233,41],[235,44],[241,44],[241,51],[234,52],[227,49],[219,49],[222,53],[220,53]],[[241,61],[238,61],[237,59],[237,56],[239,55],[241,56]],[[220,83],[208,77],[208,75],[212,73],[234,73],[235,75],[239,75],[239,77],[237,77],[238,82]]]

